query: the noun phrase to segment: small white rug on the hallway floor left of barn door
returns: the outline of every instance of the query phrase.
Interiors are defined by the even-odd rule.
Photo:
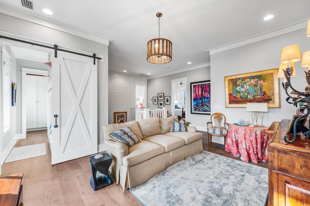
[[[13,147],[5,162],[24,160],[46,154],[47,150],[44,143],[24,147]]]

